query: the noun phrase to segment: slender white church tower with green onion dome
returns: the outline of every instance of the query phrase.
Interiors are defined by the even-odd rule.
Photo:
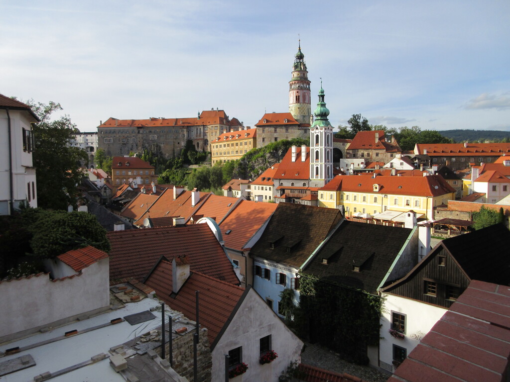
[[[333,127],[327,119],[329,110],[324,102],[322,81],[314,114],[315,121],[310,127],[310,185],[322,187],[333,179]]]

